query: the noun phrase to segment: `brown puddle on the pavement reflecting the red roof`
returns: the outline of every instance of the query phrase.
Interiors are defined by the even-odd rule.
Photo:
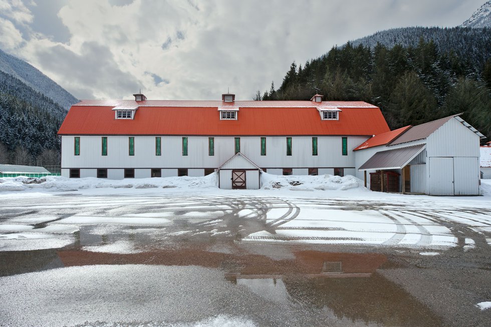
[[[275,247],[289,255],[268,257]],[[202,266],[221,271],[224,279],[270,302],[303,308],[312,315],[352,325],[439,326],[442,321],[402,287],[377,273],[387,265],[376,253],[329,253],[301,246],[208,244],[143,253],[115,254],[75,248],[0,252],[1,275],[56,267],[99,264]],[[255,250],[255,247],[259,249]],[[260,249],[262,247],[262,249]],[[286,249],[285,249],[286,248]],[[218,251],[216,251],[218,249]],[[389,264],[390,265],[390,264]],[[322,321],[322,317],[321,317]],[[356,323],[355,323],[356,322]]]

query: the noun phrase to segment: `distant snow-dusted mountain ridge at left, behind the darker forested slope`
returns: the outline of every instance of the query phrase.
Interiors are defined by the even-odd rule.
[[[0,71],[17,78],[33,90],[52,99],[66,111],[70,109],[72,104],[79,102],[73,95],[38,69],[2,50],[0,50]]]

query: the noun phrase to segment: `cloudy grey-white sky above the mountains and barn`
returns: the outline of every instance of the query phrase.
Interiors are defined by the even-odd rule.
[[[79,99],[237,100],[380,30],[460,25],[484,0],[0,0],[0,48]]]

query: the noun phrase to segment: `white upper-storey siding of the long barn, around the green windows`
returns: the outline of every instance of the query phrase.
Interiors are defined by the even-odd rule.
[[[127,136],[107,137],[107,156],[101,155],[101,136],[80,136],[80,155],[74,155],[74,136],[62,136],[63,168],[217,168],[231,158],[233,137],[214,137],[214,156],[208,155],[208,137],[188,137],[188,155],[182,155],[182,137],[161,136],[161,156],[155,155],[154,136],[135,136],[135,155],[128,154]],[[348,155],[342,155],[341,137],[317,137],[318,155],[312,155],[312,137],[292,137],[287,156],[283,136],[266,137],[267,155],[261,156],[261,137],[241,137],[240,152],[264,168],[355,167],[353,149],[366,137],[348,137]],[[109,176],[108,176],[109,177]]]

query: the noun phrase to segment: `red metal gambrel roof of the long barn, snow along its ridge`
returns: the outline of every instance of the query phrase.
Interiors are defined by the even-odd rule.
[[[134,120],[115,119],[115,106],[137,105]],[[193,106],[190,106],[193,105]],[[220,120],[218,107],[239,107]],[[373,135],[389,131],[378,107],[365,102],[88,100],[72,106],[59,135]],[[321,120],[320,108],[340,108]]]

